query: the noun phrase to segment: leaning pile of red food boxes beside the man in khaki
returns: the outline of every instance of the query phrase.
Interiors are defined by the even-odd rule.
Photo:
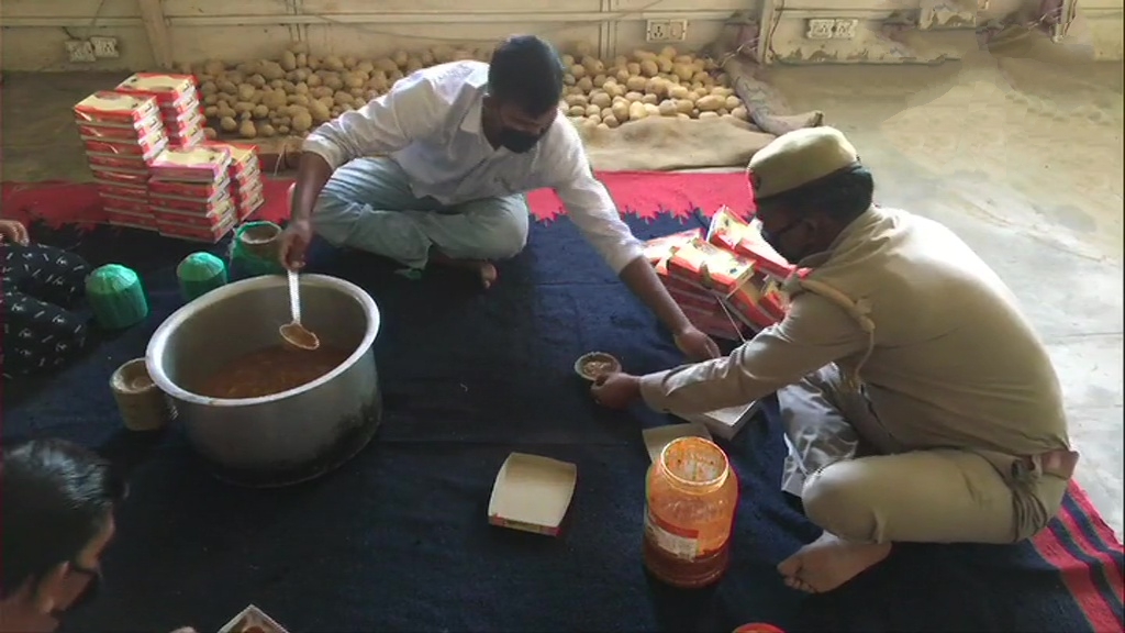
[[[773,249],[762,249],[754,232],[729,209],[720,209],[706,235],[685,231],[646,244],[646,257],[668,294],[692,324],[713,337],[742,340],[784,318],[781,283],[793,267]]]

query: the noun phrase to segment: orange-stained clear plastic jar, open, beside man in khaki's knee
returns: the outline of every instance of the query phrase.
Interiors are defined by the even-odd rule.
[[[738,478],[722,448],[701,437],[668,443],[648,470],[645,565],[685,589],[719,580],[730,564]]]

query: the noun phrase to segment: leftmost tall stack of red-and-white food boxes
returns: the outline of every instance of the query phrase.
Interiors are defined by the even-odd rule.
[[[147,163],[168,146],[156,100],[94,92],[74,106],[74,116],[109,222],[155,229]]]

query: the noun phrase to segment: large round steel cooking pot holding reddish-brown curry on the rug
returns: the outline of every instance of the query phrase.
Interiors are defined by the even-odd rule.
[[[214,289],[176,311],[148,342],[148,373],[219,479],[250,487],[314,479],[367,446],[379,425],[375,301],[354,284],[324,275],[302,275],[300,289],[302,321],[323,345],[353,351],[328,374],[297,389],[245,400],[191,392],[191,385],[234,358],[281,342],[278,327],[290,320],[282,276]]]

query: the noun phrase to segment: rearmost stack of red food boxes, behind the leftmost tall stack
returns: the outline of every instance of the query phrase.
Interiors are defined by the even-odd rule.
[[[138,72],[114,89],[126,95],[144,95],[156,99],[169,146],[191,148],[204,141],[207,122],[196,80],[190,74]]]

